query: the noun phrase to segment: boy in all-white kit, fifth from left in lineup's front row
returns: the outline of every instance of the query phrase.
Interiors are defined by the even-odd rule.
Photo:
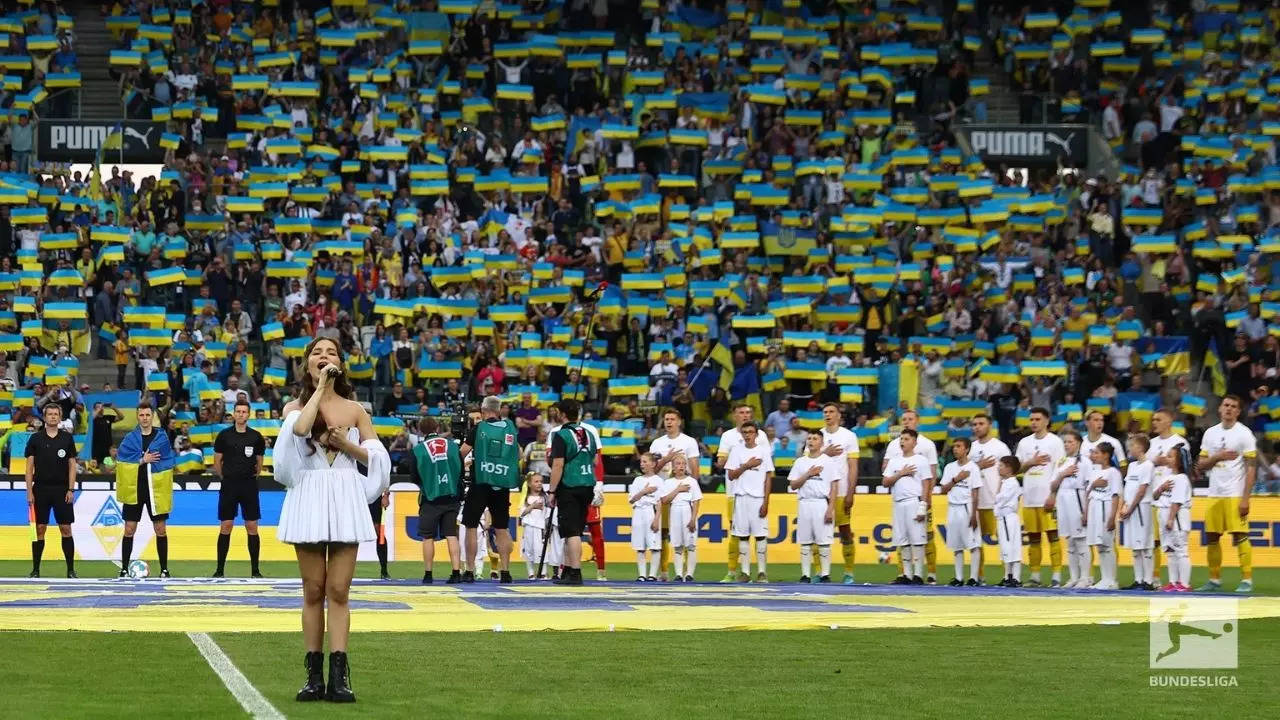
[[[928,460],[915,454],[919,433],[905,429],[897,436],[902,455],[884,466],[884,480],[893,498],[893,547],[902,559],[902,574],[893,584],[924,584],[924,521],[929,515],[933,473]]]

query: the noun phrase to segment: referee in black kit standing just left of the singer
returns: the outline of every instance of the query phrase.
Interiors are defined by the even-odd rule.
[[[227,570],[227,551],[232,547],[232,528],[236,525],[236,509],[239,507],[244,532],[248,533],[250,575],[261,578],[262,573],[257,569],[261,547],[257,521],[262,510],[257,498],[257,477],[262,473],[266,441],[248,427],[247,400],[236,401],[232,420],[234,424],[214,439],[214,473],[223,479],[218,491],[218,570],[214,570],[214,577],[221,578]]]

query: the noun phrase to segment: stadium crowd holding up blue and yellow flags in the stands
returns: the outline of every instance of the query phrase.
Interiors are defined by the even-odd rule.
[[[329,336],[393,457],[399,419],[490,393],[522,445],[585,398],[616,474],[659,407],[712,457],[737,402],[780,456],[840,404],[877,477],[908,407],[1010,445],[1033,406],[1121,436],[1170,407],[1196,446],[1230,391],[1275,439],[1276,13],[1044,5],[115,3],[165,167],[33,169],[40,101],[6,78],[12,424],[110,428],[92,356],[198,455],[241,395],[276,419]],[[8,65],[23,87],[74,65],[63,18],[6,15],[10,51],[58,38]],[[987,58],[1023,120],[1101,126],[1120,173],[965,156]]]

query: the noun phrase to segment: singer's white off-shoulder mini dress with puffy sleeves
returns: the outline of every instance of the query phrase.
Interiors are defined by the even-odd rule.
[[[376,438],[360,443],[369,454],[367,475],[344,452],[330,465],[320,443],[315,443],[312,452],[307,438],[293,434],[300,415],[294,410],[284,416],[271,450],[275,482],[285,488],[276,538],[291,544],[376,539],[369,503],[390,484],[392,460],[387,448]],[[358,442],[360,430],[351,428],[347,439]]]

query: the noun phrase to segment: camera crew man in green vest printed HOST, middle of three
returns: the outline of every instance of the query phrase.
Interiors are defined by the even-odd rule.
[[[462,445],[462,456],[468,452],[475,480],[467,488],[462,505],[462,525],[466,534],[467,570],[462,582],[475,582],[476,528],[480,516],[489,510],[490,527],[498,544],[499,583],[511,583],[511,491],[520,487],[520,445],[516,442],[516,424],[502,419],[502,400],[490,395],[480,404],[483,420],[477,423]]]

